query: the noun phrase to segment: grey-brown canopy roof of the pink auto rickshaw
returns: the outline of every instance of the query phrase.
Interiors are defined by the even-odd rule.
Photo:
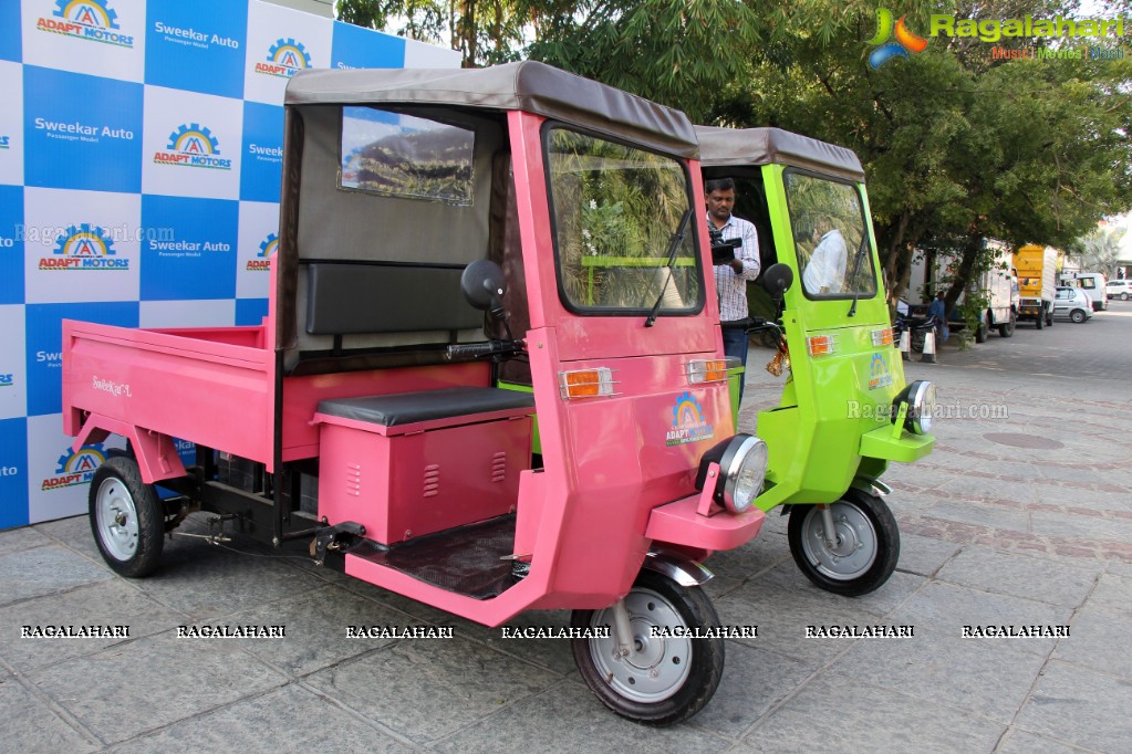
[[[698,155],[695,131],[683,112],[534,61],[479,69],[305,70],[291,78],[284,103],[518,110],[658,151]]]

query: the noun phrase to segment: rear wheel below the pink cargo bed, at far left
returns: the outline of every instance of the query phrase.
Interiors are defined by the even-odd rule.
[[[117,530],[122,531],[118,541],[112,539],[115,527],[108,518],[110,509],[121,515],[120,521],[115,519]],[[131,579],[154,572],[165,541],[165,518],[156,489],[142,482],[137,461],[119,454],[103,461],[91,482],[88,510],[94,541],[111,569]]]

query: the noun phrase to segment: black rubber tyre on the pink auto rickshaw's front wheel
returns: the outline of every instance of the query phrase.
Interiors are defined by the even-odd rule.
[[[636,599],[634,598],[636,597]],[[585,685],[590,687],[601,703],[610,710],[633,720],[649,726],[669,726],[687,720],[702,710],[714,695],[719,687],[720,678],[723,677],[723,639],[711,636],[704,639],[664,639],[649,636],[649,626],[657,625],[650,621],[649,609],[652,607],[654,598],[667,605],[658,605],[662,612],[675,612],[683,625],[687,629],[718,629],[719,616],[712,607],[711,599],[702,589],[687,589],[679,586],[671,579],[653,571],[641,571],[633,589],[626,596],[627,607],[629,607],[629,619],[634,629],[644,630],[643,636],[649,642],[662,642],[662,652],[658,662],[667,667],[669,664],[677,666],[680,662],[688,664],[691,669],[687,676],[680,681],[678,690],[667,699],[655,702],[644,702],[629,699],[618,691],[615,684],[620,684],[620,676],[612,673],[602,673],[597,666],[595,653],[599,652],[602,642],[594,639],[572,639],[571,644],[574,650],[574,662]],[[633,603],[642,603],[645,610],[634,612]],[[610,635],[615,636],[616,630],[612,626],[612,618],[607,610],[574,610],[571,616],[571,626],[575,629],[586,629],[592,626],[610,626]],[[634,630],[634,634],[637,634]],[[640,641],[641,635],[637,635]],[[603,644],[610,647],[609,640]],[[680,657],[675,652],[683,653],[684,649],[691,650],[691,659]],[[620,666],[623,660],[609,660]],[[624,666],[620,666],[624,667]],[[626,674],[631,677],[632,674]],[[644,674],[641,674],[644,677]]]

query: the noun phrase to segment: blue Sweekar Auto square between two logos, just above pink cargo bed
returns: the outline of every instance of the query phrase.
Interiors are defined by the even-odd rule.
[[[240,202],[142,197],[142,301],[235,297]]]

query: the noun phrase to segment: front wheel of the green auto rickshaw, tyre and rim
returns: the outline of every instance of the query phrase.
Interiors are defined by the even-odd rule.
[[[834,554],[825,546],[822,536],[822,513],[817,505],[794,505],[790,509],[790,522],[787,527],[787,539],[790,543],[790,554],[806,578],[825,591],[844,597],[858,597],[875,591],[882,587],[892,575],[900,558],[900,529],[897,527],[897,519],[892,515],[889,506],[877,496],[849,489],[841,500],[831,503],[833,506],[834,526],[839,530],[839,541],[849,541],[840,532],[854,535],[851,538],[859,541],[866,549],[871,546],[874,556],[872,561],[867,558],[860,564],[859,571],[841,574],[831,574],[831,569],[823,566],[821,560],[812,560],[807,554],[820,554],[821,558],[829,560]],[[844,510],[839,510],[847,506]],[[839,515],[844,517],[839,519]],[[855,521],[848,521],[851,515]],[[806,532],[809,532],[808,541],[805,540]],[[849,555],[855,556],[857,551],[850,551]],[[869,553],[866,552],[867,556]],[[839,555],[840,556],[840,555]],[[851,567],[851,566],[850,566]]]

